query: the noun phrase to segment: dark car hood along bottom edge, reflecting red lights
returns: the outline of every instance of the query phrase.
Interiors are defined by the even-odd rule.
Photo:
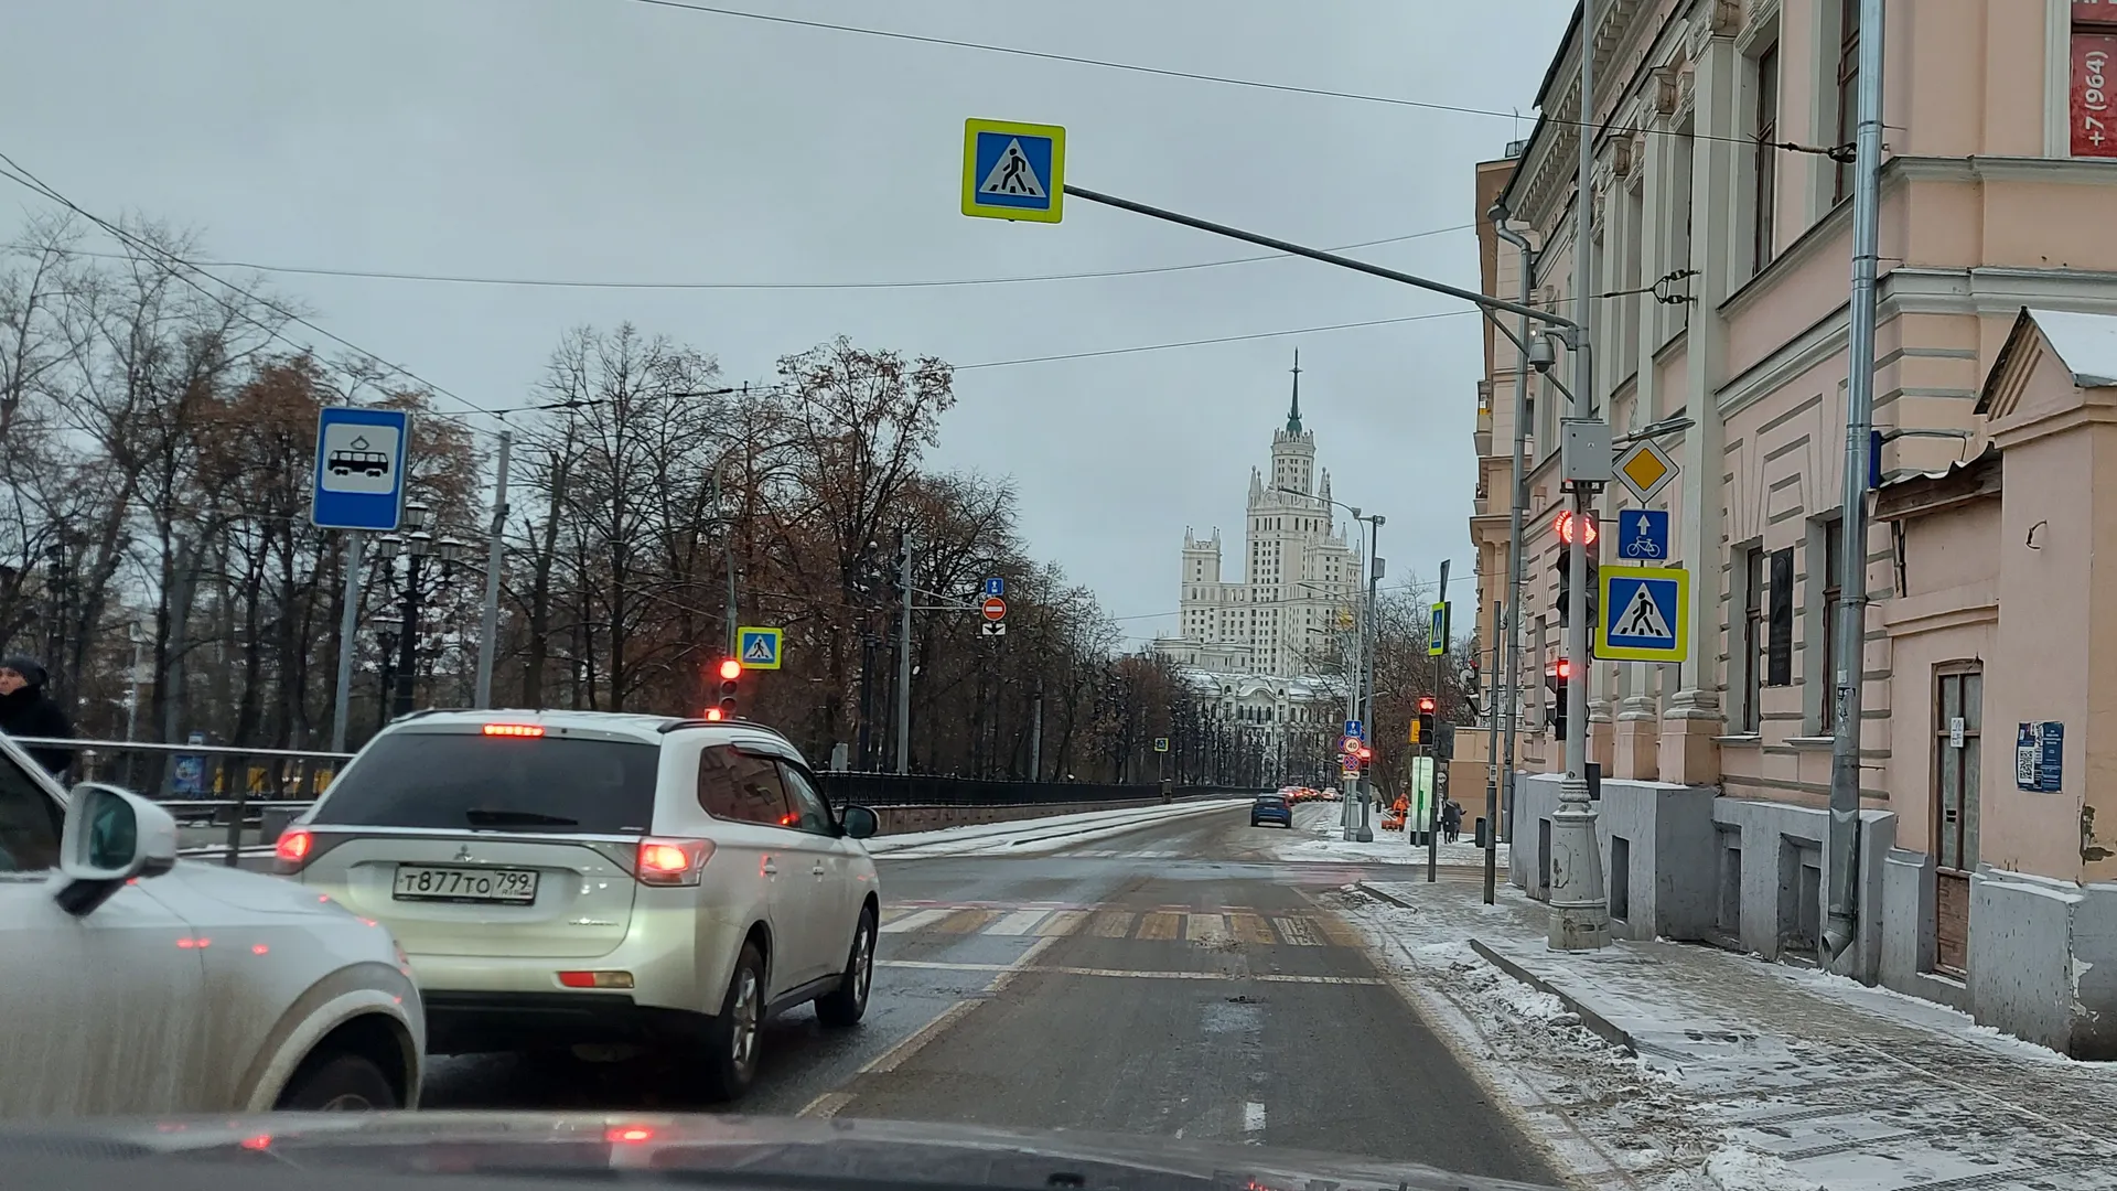
[[[580,1115],[580,1113],[373,1113],[250,1119],[78,1121],[0,1132],[0,1170],[30,1172],[13,1187],[57,1189],[89,1176],[138,1178],[133,1163],[199,1174],[216,1187],[379,1187],[392,1176],[462,1176],[603,1185],[815,1187],[817,1191],[1503,1191],[1524,1183],[1444,1174],[1427,1166],[1262,1146],[991,1130],[910,1121]],[[131,1172],[110,1163],[133,1166]],[[248,1176],[246,1176],[248,1168]],[[47,1174],[49,1172],[49,1174]],[[116,1185],[116,1183],[110,1183]],[[421,1178],[445,1191],[445,1183]]]

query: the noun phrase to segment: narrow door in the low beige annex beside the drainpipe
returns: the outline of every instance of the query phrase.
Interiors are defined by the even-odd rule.
[[[1933,966],[1969,975],[1971,873],[1977,871],[1977,769],[1984,672],[1946,665],[1933,676]]]

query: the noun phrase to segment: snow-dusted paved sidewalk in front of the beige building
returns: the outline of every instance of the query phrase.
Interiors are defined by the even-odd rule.
[[[1586,1185],[2117,1187],[2117,1064],[1704,945],[1556,954],[1545,907],[1507,886],[1492,907],[1448,884],[1342,896],[1401,988]]]

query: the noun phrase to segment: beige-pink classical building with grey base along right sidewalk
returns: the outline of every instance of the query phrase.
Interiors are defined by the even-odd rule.
[[[1691,572],[1689,659],[1586,678],[1620,935],[1816,952],[1852,244],[1831,150],[1852,140],[1863,36],[1854,0],[1598,0],[1588,119],[1575,17],[1543,119],[1478,170],[1480,214],[1497,199],[1535,248],[1533,301],[1577,309],[1575,138],[1594,129],[1594,392],[1526,388],[1520,769],[1562,754],[1543,731],[1558,420],[1689,420],[1660,439],[1681,475],[1653,500]],[[2117,803],[2100,723],[2117,670],[2096,668],[2117,623],[2096,566],[2104,532],[2117,547],[2098,517],[2117,456],[2096,451],[2117,447],[2113,53],[2109,0],[1886,2],[1852,954],[1865,979],[2100,1055],[2117,1053],[2117,805],[2096,816]],[[1486,292],[1520,297],[1522,256],[1488,227]],[[1497,576],[1518,360],[1490,331],[1486,362],[1471,534]],[[1628,502],[1605,492],[1605,526]],[[1482,583],[1490,642],[1503,585]],[[1522,782],[1514,879],[1533,892],[1554,801]]]

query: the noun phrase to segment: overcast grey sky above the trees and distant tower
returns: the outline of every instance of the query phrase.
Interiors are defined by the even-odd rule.
[[[709,0],[711,2],[711,0]],[[963,119],[1067,127],[1067,180],[1315,246],[1478,218],[1571,0],[722,0],[1109,61],[1512,112],[1037,61],[639,0],[11,0],[0,150],[83,208],[218,259],[663,282],[917,282],[1196,265],[1253,248],[1069,201],[959,214]],[[38,199],[13,184],[0,220]],[[1469,229],[1363,248],[1476,286]],[[730,379],[849,335],[959,367],[938,464],[1012,477],[1037,557],[1133,642],[1175,627],[1186,526],[1241,576],[1249,468],[1302,415],[1391,579],[1471,570],[1467,314],[1010,367],[1035,356],[1456,312],[1315,265],[929,288],[584,290],[279,275],[315,322],[478,405],[574,324],[633,320]],[[328,348],[328,345],[326,345]],[[1467,596],[1465,587],[1456,589]],[[1156,617],[1162,615],[1162,617]]]

